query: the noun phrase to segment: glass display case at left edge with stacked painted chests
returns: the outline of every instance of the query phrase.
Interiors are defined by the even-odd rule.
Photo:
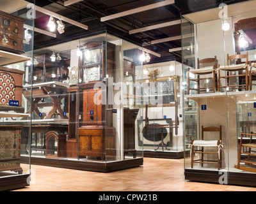
[[[33,63],[34,20],[26,16],[31,9],[28,3],[17,3],[15,8],[1,6],[0,11],[0,191],[29,186],[31,182],[27,149],[31,114],[24,92]],[[22,152],[27,156],[22,158]]]

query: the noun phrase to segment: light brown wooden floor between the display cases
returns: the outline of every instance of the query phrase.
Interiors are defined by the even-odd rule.
[[[15,191],[256,191],[186,181],[183,159],[144,158],[143,166],[110,173],[35,165],[31,172],[31,185]]]

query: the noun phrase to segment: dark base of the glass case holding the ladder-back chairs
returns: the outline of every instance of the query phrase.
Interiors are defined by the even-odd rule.
[[[223,171],[185,170],[185,180],[196,182],[220,183]],[[226,171],[227,172],[227,171]],[[227,172],[227,184],[256,187],[255,173]]]

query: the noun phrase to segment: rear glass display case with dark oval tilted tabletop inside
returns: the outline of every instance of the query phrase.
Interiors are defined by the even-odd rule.
[[[182,158],[182,64],[177,61],[143,65],[144,157]],[[176,112],[177,110],[177,112]],[[146,120],[147,117],[147,120]],[[175,131],[177,127],[177,130]]]

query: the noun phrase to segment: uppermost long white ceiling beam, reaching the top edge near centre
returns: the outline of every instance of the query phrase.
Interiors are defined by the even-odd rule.
[[[175,0],[165,0],[165,1],[161,1],[159,3],[149,4],[147,6],[141,6],[139,8],[134,8],[132,10],[127,10],[127,11],[123,11],[123,12],[120,12],[120,13],[115,13],[113,15],[108,15],[106,17],[100,18],[100,21],[104,22],[104,21],[107,21],[107,20],[112,20],[112,19],[115,19],[115,18],[120,18],[120,17],[127,16],[127,15],[132,15],[134,13],[140,13],[142,11],[152,10],[154,8],[159,8],[159,7],[166,6],[166,5],[169,5],[169,4],[174,4],[174,3],[175,3]]]

